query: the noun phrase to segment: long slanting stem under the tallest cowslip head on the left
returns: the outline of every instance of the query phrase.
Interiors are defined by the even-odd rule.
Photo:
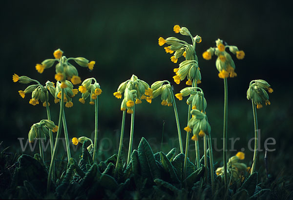
[[[60,112],[59,112],[59,121],[58,121],[58,131],[56,135],[55,145],[54,145],[54,151],[51,158],[49,173],[48,173],[48,179],[47,179],[47,194],[50,192],[50,185],[51,185],[51,174],[53,171],[53,167],[55,166],[55,157],[57,155],[57,147],[60,139],[60,133],[61,133],[61,126],[62,126],[62,114],[63,114],[63,108],[64,108],[64,89],[61,89],[61,106],[60,106]]]

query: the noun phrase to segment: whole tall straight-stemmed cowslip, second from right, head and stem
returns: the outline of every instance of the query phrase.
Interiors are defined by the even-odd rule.
[[[227,137],[228,137],[228,83],[227,78],[236,77],[234,72],[235,64],[232,57],[226,48],[229,48],[230,52],[236,54],[237,59],[244,59],[244,51],[239,51],[237,46],[224,45],[223,40],[216,40],[217,47],[210,47],[203,53],[205,60],[210,60],[212,55],[216,55],[216,68],[219,71],[219,78],[224,80],[224,125],[223,125],[223,163],[224,163],[224,182],[226,189],[228,188],[228,176],[227,176]]]

